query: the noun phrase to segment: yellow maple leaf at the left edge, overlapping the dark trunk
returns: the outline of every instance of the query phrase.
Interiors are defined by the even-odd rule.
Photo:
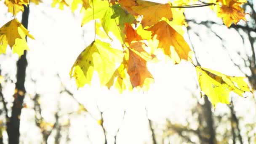
[[[0,28],[0,51],[6,52],[7,43],[20,57],[24,50],[29,50],[26,41],[26,35],[32,39],[34,37],[29,34],[29,31],[17,20],[13,19]]]

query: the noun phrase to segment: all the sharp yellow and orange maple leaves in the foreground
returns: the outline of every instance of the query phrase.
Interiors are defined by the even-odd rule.
[[[39,3],[38,0],[34,1]],[[22,5],[29,4],[23,0],[13,2],[5,0],[9,11],[14,5],[15,13],[23,11]],[[133,88],[149,88],[154,78],[147,69],[147,62],[158,61],[159,52],[164,53],[166,59],[174,64],[179,64],[181,60],[193,64],[193,52],[182,36],[182,27],[187,25],[184,8],[211,5],[217,16],[230,27],[232,23],[245,20],[246,13],[240,7],[243,3],[246,0],[209,0],[208,3],[199,3],[197,0],[173,0],[172,3],[145,0],[53,0],[52,6],[58,4],[63,9],[66,5],[73,12],[80,7],[80,13],[84,16],[81,26],[89,21],[95,22],[94,41],[80,53],[69,73],[70,77],[75,78],[77,87],[91,84],[96,71],[101,85],[108,88],[114,86],[122,92]],[[14,49],[25,45],[25,41],[21,43],[25,35],[33,38],[16,19],[5,24],[0,29],[0,53],[5,53],[8,44],[13,48],[13,53],[21,56],[21,51],[28,48],[20,47],[19,51]],[[122,48],[112,46],[109,41],[113,40],[119,41]],[[227,76],[194,66],[201,91],[209,97],[214,107],[219,102],[229,104],[230,91],[240,96],[251,92],[244,81],[245,77]]]

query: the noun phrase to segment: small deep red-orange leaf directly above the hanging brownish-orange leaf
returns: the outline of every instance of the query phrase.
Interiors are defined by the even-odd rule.
[[[138,35],[135,29],[131,26],[131,24],[125,23],[125,42],[131,44],[132,41],[142,40],[141,36]]]

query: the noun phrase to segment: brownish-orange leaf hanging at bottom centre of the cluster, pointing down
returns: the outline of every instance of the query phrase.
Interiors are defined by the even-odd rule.
[[[141,53],[146,52],[142,45],[143,43],[141,42],[135,42],[129,48],[128,74],[133,87],[143,87],[146,78],[153,78],[147,69],[147,60],[142,58],[144,56],[141,57]],[[153,57],[151,58],[153,59]]]

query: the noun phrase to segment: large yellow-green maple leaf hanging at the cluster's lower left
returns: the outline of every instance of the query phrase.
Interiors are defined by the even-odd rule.
[[[91,84],[93,72],[98,72],[101,85],[106,85],[123,59],[123,51],[111,48],[109,43],[96,40],[80,53],[70,70],[77,87]],[[119,65],[118,65],[119,64]]]

